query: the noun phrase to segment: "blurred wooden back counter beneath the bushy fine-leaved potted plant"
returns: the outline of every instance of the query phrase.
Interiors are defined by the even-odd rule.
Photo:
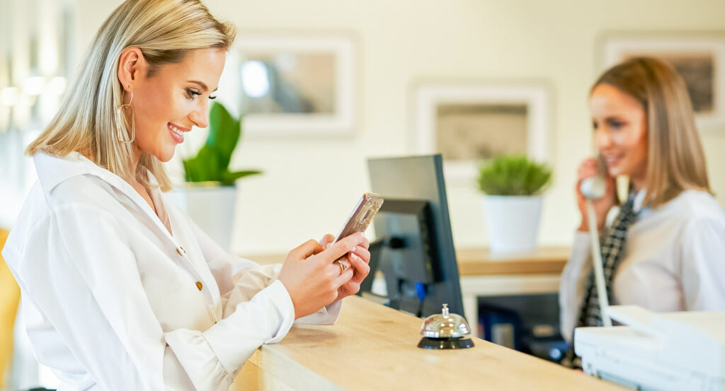
[[[568,247],[541,247],[529,253],[505,256],[485,248],[456,251],[464,316],[471,324],[479,319],[479,296],[557,293],[561,271],[569,257]],[[284,261],[284,254],[249,256],[268,264]],[[376,276],[378,278],[378,276]],[[476,331],[478,327],[473,327]]]

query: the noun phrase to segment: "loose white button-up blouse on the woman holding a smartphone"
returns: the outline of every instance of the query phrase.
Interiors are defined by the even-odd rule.
[[[153,190],[171,235],[128,182],[80,154],[33,159],[38,182],[2,255],[59,391],[226,391],[289,331],[281,264],[230,256]],[[300,320],[334,324],[339,308]]]

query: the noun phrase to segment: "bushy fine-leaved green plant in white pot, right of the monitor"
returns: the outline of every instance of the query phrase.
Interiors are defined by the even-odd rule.
[[[482,161],[478,185],[484,193],[484,214],[492,253],[536,248],[542,196],[551,169],[525,156],[500,156]]]

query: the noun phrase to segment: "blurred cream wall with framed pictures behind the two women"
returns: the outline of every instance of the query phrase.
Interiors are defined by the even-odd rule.
[[[73,88],[84,51],[118,4],[0,1],[1,228],[12,228],[35,180],[25,145]],[[243,115],[230,167],[263,171],[236,185],[233,253],[286,253],[335,234],[369,190],[366,159],[436,152],[457,248],[489,246],[477,167],[505,154],[552,169],[538,244],[566,248],[579,224],[576,168],[594,154],[589,87],[637,54],[662,56],[686,78],[711,185],[725,203],[723,1],[204,4],[239,28],[219,87],[219,101]],[[182,159],[206,134],[194,129],[169,162],[178,185]]]

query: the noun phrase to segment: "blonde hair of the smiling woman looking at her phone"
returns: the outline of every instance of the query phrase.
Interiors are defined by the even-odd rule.
[[[86,152],[100,167],[119,177],[134,175],[146,186],[148,169],[159,187],[169,190],[171,181],[154,156],[141,154],[136,172],[130,172],[133,146],[119,140],[130,138],[130,124],[117,118],[117,107],[123,103],[117,76],[121,52],[138,47],[149,63],[147,76],[152,77],[162,65],[180,62],[189,50],[228,50],[234,37],[233,25],[216,20],[199,0],[124,1],[101,25],[64,104],[25,153]]]

